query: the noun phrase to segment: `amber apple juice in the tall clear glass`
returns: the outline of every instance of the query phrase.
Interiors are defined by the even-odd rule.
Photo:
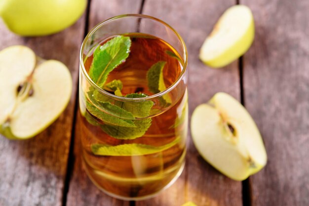
[[[148,81],[151,79],[147,79],[147,72],[158,62],[165,62],[162,74],[166,88],[178,80],[183,65],[180,55],[171,45],[148,34],[123,35],[130,37],[130,54],[109,73],[106,80],[120,80],[123,84],[122,96],[132,93],[148,97],[154,95],[149,88]],[[105,39],[100,45],[111,38]],[[92,61],[93,53],[84,61],[88,73]],[[87,97],[89,88],[87,91],[80,88],[80,94],[83,94],[80,95],[82,160],[88,176],[99,188],[118,198],[138,200],[159,192],[180,175],[184,166],[188,127],[186,85],[182,79],[165,97],[149,100],[153,104],[149,115],[137,116],[134,120],[135,124],[137,121],[148,122],[148,128],[141,137],[133,138],[129,138],[134,135],[131,130],[125,130],[127,134],[123,133],[121,138],[114,132],[111,135],[111,130],[104,130],[106,123],[86,106],[85,101],[91,101]],[[108,92],[114,94],[113,91]],[[110,102],[120,105],[117,101]],[[135,106],[135,102],[132,104]],[[143,109],[138,103],[136,107]],[[136,124],[136,127],[139,126]],[[104,153],[94,153],[93,145],[104,145]]]

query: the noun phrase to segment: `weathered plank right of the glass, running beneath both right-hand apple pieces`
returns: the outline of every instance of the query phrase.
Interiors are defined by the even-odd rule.
[[[240,98],[237,62],[224,69],[209,69],[198,60],[199,48],[213,25],[233,0],[146,0],[143,13],[170,24],[184,38],[189,52],[190,116],[200,103],[223,91]],[[241,183],[233,181],[208,165],[188,145],[186,167],[180,178],[157,197],[137,202],[138,206],[180,206],[193,201],[198,206],[240,206]]]

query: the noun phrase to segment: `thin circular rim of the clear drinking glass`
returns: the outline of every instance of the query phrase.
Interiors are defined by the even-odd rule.
[[[113,20],[116,19],[121,19],[121,18],[127,18],[127,17],[137,17],[137,18],[146,18],[146,19],[151,19],[154,20],[156,22],[159,22],[161,24],[163,24],[164,26],[166,26],[167,28],[169,28],[172,32],[174,32],[174,34],[176,34],[176,36],[178,37],[178,39],[181,42],[182,45],[182,49],[184,51],[184,64],[183,64],[183,69],[180,73],[180,75],[178,76],[177,80],[168,88],[166,88],[165,90],[163,90],[162,92],[156,93],[154,95],[151,96],[147,96],[147,97],[142,97],[142,98],[127,98],[127,97],[119,97],[116,95],[113,95],[107,91],[105,91],[104,89],[102,89],[101,87],[99,87],[95,82],[93,82],[93,80],[90,78],[90,76],[88,75],[85,67],[84,67],[84,63],[83,63],[83,50],[85,47],[86,42],[88,41],[88,39],[90,38],[90,36],[92,34],[94,34],[101,26],[103,26],[106,23],[112,22]],[[183,76],[185,75],[185,72],[187,70],[188,67],[188,51],[187,51],[187,47],[186,44],[183,40],[183,38],[180,36],[180,34],[178,34],[178,32],[176,32],[175,29],[173,29],[171,26],[169,26],[167,23],[165,23],[164,21],[157,19],[155,17],[149,16],[149,15],[145,15],[145,14],[122,14],[122,15],[118,15],[112,18],[109,18],[105,21],[100,22],[99,24],[97,24],[95,27],[93,27],[90,32],[85,36],[84,40],[82,41],[81,47],[80,47],[80,52],[79,52],[79,64],[81,66],[81,70],[84,74],[84,76],[86,77],[87,81],[90,83],[90,85],[92,87],[94,87],[96,90],[98,90],[101,94],[110,97],[112,99],[118,100],[118,101],[122,101],[122,102],[142,102],[142,101],[146,101],[146,100],[153,100],[159,97],[162,97],[163,95],[165,95],[166,93],[169,93],[170,91],[172,91],[183,79]]]

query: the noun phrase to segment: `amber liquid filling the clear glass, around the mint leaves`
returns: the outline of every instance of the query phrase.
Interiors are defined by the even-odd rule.
[[[148,89],[146,73],[158,61],[166,61],[163,70],[166,88],[178,79],[183,68],[177,58],[166,53],[166,51],[170,51],[179,56],[169,44],[150,35],[126,35],[130,36],[132,40],[130,55],[124,63],[109,74],[107,82],[120,79],[123,83],[121,90],[123,95],[143,93],[151,96],[153,93]],[[92,59],[93,56],[90,55],[84,63],[87,71]],[[154,195],[180,175],[184,165],[188,127],[186,88],[179,91],[178,96],[178,99],[171,97],[173,102],[169,108],[152,116],[152,124],[145,135],[135,139],[126,140],[111,137],[104,133],[99,126],[89,124],[82,116],[83,164],[88,176],[99,188],[117,198],[138,200]],[[158,110],[157,104],[158,102],[155,102],[152,109]],[[86,112],[88,111],[86,110]],[[182,121],[175,124],[176,119],[182,119]],[[90,145],[94,143],[113,146],[129,143],[161,146],[172,142],[175,138],[181,140],[164,151],[148,155],[100,156],[94,155],[90,149]]]

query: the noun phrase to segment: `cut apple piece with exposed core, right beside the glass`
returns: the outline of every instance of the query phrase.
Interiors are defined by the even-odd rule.
[[[208,104],[195,108],[191,133],[200,155],[234,180],[244,180],[266,165],[266,150],[254,120],[226,93],[217,93]]]

